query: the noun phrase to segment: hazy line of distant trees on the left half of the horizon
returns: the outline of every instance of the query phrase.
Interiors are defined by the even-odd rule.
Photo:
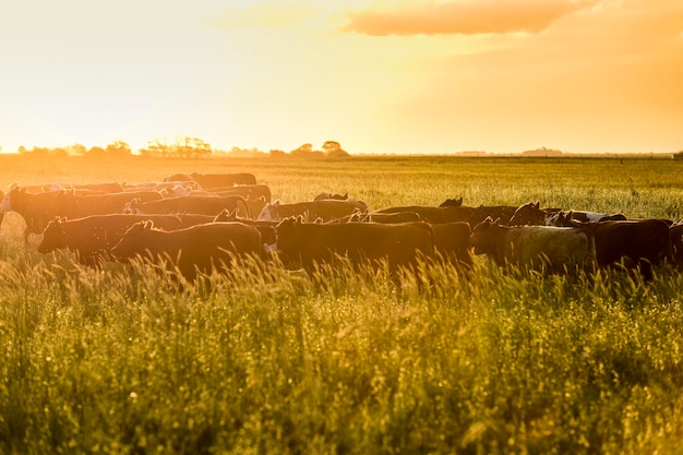
[[[299,147],[285,152],[281,149],[271,149],[263,152],[259,148],[240,148],[232,147],[230,151],[215,149],[209,143],[199,137],[176,137],[169,142],[166,139],[155,139],[147,143],[144,148],[137,149],[135,153],[124,141],[115,141],[107,146],[93,146],[87,148],[83,144],[74,144],[65,147],[38,147],[26,148],[20,146],[16,151],[21,155],[31,156],[87,156],[95,158],[120,158],[129,156],[144,156],[154,158],[202,158],[208,156],[235,156],[235,157],[299,157],[299,158],[324,158],[324,157],[346,157],[348,152],[342,148],[336,141],[325,141],[321,149],[315,149],[312,144],[305,143]]]

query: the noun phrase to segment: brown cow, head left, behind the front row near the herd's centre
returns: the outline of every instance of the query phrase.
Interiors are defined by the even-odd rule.
[[[280,220],[291,216],[304,216],[308,220],[332,221],[355,213],[367,213],[368,204],[361,201],[305,201],[290,204],[280,204],[279,200],[271,204],[265,204],[257,219]]]

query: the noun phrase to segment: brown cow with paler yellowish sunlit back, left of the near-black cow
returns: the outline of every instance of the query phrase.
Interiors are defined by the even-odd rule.
[[[592,271],[596,243],[589,230],[554,226],[501,226],[491,218],[474,229],[475,254],[489,254],[501,266],[551,273]]]

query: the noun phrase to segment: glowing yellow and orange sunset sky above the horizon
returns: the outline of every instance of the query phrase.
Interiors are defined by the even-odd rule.
[[[681,0],[3,0],[2,152],[683,151]]]

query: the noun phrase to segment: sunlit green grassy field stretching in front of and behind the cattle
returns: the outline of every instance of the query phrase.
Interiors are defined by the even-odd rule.
[[[13,183],[251,171],[285,202],[522,204],[683,217],[683,163],[352,157],[120,161],[0,155]],[[0,452],[676,454],[683,276],[323,270],[253,263],[179,289],[0,231]]]

